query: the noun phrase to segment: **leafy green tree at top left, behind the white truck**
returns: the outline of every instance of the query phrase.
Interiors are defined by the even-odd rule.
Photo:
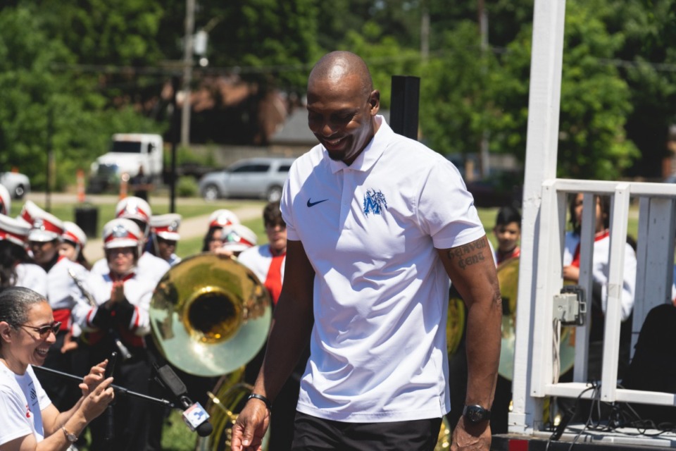
[[[127,110],[106,109],[108,100],[91,76],[55,72],[54,63],[75,56],[46,34],[39,13],[17,6],[0,11],[0,166],[16,166],[44,189],[47,152],[57,163],[54,188],[75,181],[75,169],[87,169],[101,154],[117,125],[157,125]],[[20,49],[20,51],[17,51]]]

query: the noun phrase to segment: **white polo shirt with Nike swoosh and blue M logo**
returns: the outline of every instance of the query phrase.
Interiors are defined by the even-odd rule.
[[[435,248],[484,228],[455,166],[377,121],[351,166],[318,145],[284,186],[288,239],[316,273],[298,410],[347,422],[439,418],[450,409],[449,277]]]

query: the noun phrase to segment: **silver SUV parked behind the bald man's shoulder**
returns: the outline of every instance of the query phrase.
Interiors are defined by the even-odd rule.
[[[260,157],[239,160],[223,171],[204,175],[199,192],[206,200],[220,197],[255,197],[275,202],[289,175],[293,158]]]

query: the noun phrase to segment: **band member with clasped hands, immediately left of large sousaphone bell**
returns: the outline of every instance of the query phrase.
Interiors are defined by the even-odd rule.
[[[84,331],[91,362],[100,362],[111,352],[123,350],[115,366],[115,383],[138,393],[149,393],[151,364],[145,337],[150,333],[149,306],[156,280],[143,277],[139,253],[143,233],[130,219],[117,218],[104,226],[106,269],[89,276],[93,307],[78,308],[74,316]],[[97,360],[98,359],[98,360]],[[115,404],[113,450],[143,450],[148,435],[149,405],[144,400],[123,397]],[[92,422],[92,449],[103,449],[105,421]]]

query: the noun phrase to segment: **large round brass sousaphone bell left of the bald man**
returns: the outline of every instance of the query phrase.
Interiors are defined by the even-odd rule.
[[[152,335],[171,364],[194,376],[230,373],[261,350],[270,295],[246,266],[215,254],[180,261],[159,281],[150,304]]]

